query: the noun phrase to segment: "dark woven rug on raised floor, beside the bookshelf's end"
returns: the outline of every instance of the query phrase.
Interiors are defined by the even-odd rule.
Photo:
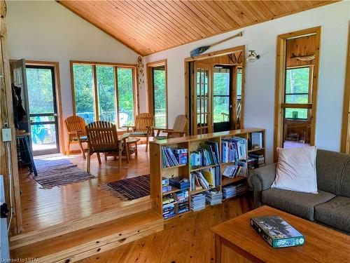
[[[103,184],[101,189],[124,201],[134,200],[144,196],[149,196],[151,192],[151,176],[141,175],[138,177],[118,180]]]

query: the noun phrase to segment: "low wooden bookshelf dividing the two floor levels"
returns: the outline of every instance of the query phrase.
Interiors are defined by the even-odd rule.
[[[251,133],[262,133],[262,145],[260,149],[250,149],[250,143],[249,140],[251,140]],[[246,177],[248,175],[248,154],[250,153],[258,153],[263,154],[264,158],[266,156],[265,154],[265,129],[261,128],[247,128],[247,129],[241,129],[241,130],[230,130],[225,131],[221,133],[208,133],[204,135],[195,135],[195,136],[187,136],[187,137],[179,137],[174,139],[167,139],[167,140],[157,140],[154,142],[150,142],[150,163],[151,163],[151,199],[152,199],[152,209],[155,210],[156,213],[162,215],[162,198],[163,196],[166,196],[167,194],[172,194],[177,191],[181,191],[177,189],[176,187],[172,187],[172,191],[167,191],[165,193],[162,193],[162,177],[171,178],[171,177],[183,177],[190,181],[190,173],[198,170],[202,170],[205,168],[212,168],[217,165],[211,165],[211,166],[204,166],[204,167],[191,167],[190,166],[190,153],[192,151],[195,151],[198,149],[200,144],[202,142],[211,140],[218,142],[219,147],[219,156],[220,159],[222,159],[221,156],[221,140],[225,140],[231,137],[243,137],[247,140],[246,144],[246,154],[247,158],[244,160],[246,162],[247,169],[244,170],[244,172],[241,172],[240,175],[235,176],[234,178],[228,178],[223,177],[223,170],[226,166],[232,165],[234,163],[220,163],[220,170],[221,170],[221,184],[212,187],[211,189],[218,189],[222,190],[222,187],[228,185],[228,184],[237,184],[241,182],[246,181]],[[173,166],[169,168],[162,168],[162,147],[168,146],[172,148],[182,148],[182,149],[188,149],[188,163],[182,164],[180,166]],[[221,160],[220,160],[221,161]],[[190,188],[191,189],[191,188]],[[208,191],[209,189],[199,189],[199,190],[188,190],[188,203],[189,203],[189,209],[190,209],[190,196],[193,194],[198,194],[203,191]],[[223,199],[224,200],[224,199]],[[186,213],[193,213],[193,211],[190,210],[190,212]],[[186,213],[176,214],[174,217],[183,215]],[[170,217],[174,218],[174,217]],[[169,220],[168,219],[168,220]]]

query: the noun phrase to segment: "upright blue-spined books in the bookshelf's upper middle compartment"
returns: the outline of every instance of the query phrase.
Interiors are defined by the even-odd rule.
[[[190,154],[190,166],[212,166],[220,165],[220,156],[218,150],[218,142],[202,142],[197,151]]]

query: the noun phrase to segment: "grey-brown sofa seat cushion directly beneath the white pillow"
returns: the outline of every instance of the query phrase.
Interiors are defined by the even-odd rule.
[[[314,206],[330,201],[335,195],[318,190],[318,194],[270,188],[262,191],[262,203],[314,221]]]

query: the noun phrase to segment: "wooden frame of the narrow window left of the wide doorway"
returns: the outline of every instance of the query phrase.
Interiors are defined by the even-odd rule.
[[[148,112],[154,112],[154,102],[153,102],[153,67],[165,66],[165,112],[167,117],[165,119],[165,128],[169,127],[168,119],[168,66],[167,60],[158,60],[155,62],[149,62],[146,64],[146,76],[147,76],[147,93],[148,93]]]

